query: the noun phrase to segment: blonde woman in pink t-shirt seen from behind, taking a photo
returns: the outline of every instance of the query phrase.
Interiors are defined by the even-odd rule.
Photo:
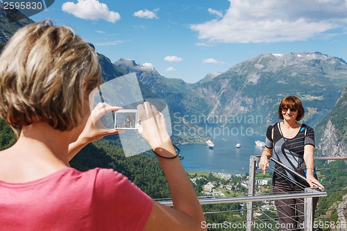
[[[139,105],[142,135],[160,155],[174,208],[160,205],[112,169],[79,172],[69,158],[117,130],[93,121],[88,95],[101,83],[98,56],[50,21],[20,29],[0,56],[0,116],[18,135],[0,152],[3,230],[202,230],[203,211],[176,156],[162,114]],[[154,129],[153,129],[154,128]]]

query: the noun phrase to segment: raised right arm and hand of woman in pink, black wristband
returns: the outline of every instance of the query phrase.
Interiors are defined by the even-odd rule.
[[[139,105],[142,128],[139,133],[149,142],[153,151],[164,157],[173,157],[176,151],[167,132],[164,116],[155,107],[145,102]],[[158,157],[169,185],[174,208],[153,201],[153,209],[144,230],[205,230],[205,221],[192,183],[178,158]]]

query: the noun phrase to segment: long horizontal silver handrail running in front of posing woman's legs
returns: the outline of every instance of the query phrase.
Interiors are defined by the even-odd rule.
[[[314,189],[314,188],[312,188]],[[316,190],[314,190],[316,191]],[[300,194],[271,194],[266,196],[243,196],[234,198],[208,198],[199,199],[201,205],[215,205],[215,204],[226,204],[226,203],[244,203],[244,202],[255,202],[264,200],[284,200],[293,198],[311,198],[311,197],[321,197],[328,196],[325,191],[316,191],[314,193],[300,193]],[[173,206],[172,200],[159,201],[162,205]]]

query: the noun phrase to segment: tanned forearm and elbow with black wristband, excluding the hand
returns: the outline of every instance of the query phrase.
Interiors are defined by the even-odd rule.
[[[163,156],[176,153],[171,142],[162,144],[161,148],[155,148],[155,152]],[[153,201],[153,209],[144,230],[204,230],[203,209],[180,160],[162,157],[158,157],[158,160],[167,178],[174,208]]]

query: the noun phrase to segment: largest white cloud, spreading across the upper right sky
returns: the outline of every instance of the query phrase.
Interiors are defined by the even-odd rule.
[[[297,41],[347,26],[347,1],[229,1],[223,18],[190,25],[200,40],[210,43]]]

